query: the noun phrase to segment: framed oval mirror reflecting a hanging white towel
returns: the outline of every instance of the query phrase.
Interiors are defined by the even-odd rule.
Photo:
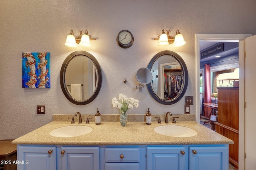
[[[102,72],[100,64],[86,51],[68,55],[60,70],[60,86],[66,98],[77,105],[92,102],[100,92]]]

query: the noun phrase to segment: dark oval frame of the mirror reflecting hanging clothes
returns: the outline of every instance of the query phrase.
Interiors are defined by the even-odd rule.
[[[177,103],[185,94],[187,87],[188,87],[188,69],[187,66],[184,62],[184,60],[180,57],[180,55],[178,55],[177,53],[173,52],[173,51],[161,51],[159,53],[157,53],[149,62],[148,64],[148,69],[151,70],[154,62],[161,56],[164,55],[170,55],[171,57],[174,57],[181,66],[182,72],[183,72],[183,76],[184,76],[184,82],[183,82],[183,87],[181,89],[181,93],[179,94],[179,96],[175,97],[172,100],[162,100],[160,98],[158,98],[158,96],[156,96],[156,94],[154,93],[151,83],[147,84],[147,88],[148,88],[148,92],[150,93],[150,95],[152,96],[152,98],[154,98],[154,100],[156,100],[158,103],[160,104],[164,104],[164,105],[171,105],[171,104],[175,104]]]

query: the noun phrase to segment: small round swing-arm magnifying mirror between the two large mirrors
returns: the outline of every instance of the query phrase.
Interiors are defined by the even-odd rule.
[[[140,84],[146,85],[152,80],[152,73],[150,69],[142,67],[136,73],[136,79]]]

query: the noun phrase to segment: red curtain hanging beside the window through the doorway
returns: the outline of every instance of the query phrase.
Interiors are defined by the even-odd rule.
[[[212,103],[211,100],[211,82],[210,82],[210,64],[204,65],[204,103]],[[204,107],[204,116],[207,117],[211,108]]]

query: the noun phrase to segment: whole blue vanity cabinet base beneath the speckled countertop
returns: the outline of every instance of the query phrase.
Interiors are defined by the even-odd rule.
[[[228,170],[228,145],[17,145],[18,170]]]

